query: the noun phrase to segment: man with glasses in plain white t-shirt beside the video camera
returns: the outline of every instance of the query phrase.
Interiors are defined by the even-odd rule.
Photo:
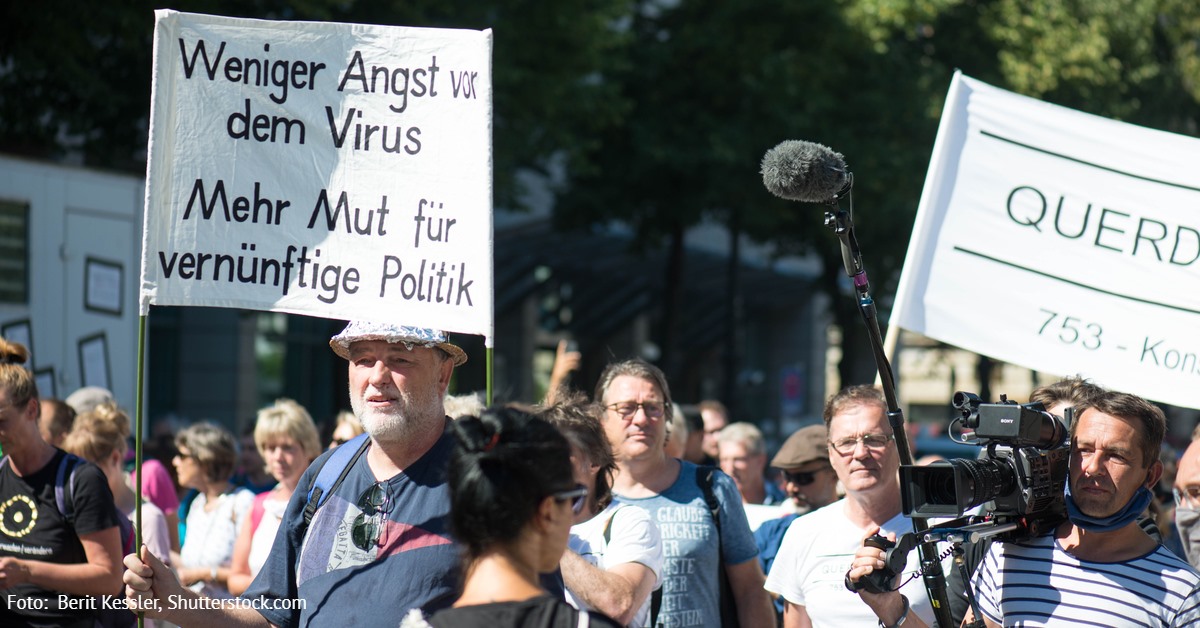
[[[784,626],[874,626],[876,616],[846,590],[845,575],[866,533],[900,536],[912,521],[900,512],[900,454],[887,418],[883,395],[869,385],[838,393],[824,407],[829,462],[846,497],[804,515],[787,528],[767,590],[784,599]],[[905,573],[919,568],[916,551]],[[912,611],[934,622],[934,610],[919,578],[901,592]]]

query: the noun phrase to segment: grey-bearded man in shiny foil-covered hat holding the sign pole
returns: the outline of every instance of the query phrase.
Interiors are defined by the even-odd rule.
[[[125,558],[131,605],[180,626],[394,627],[409,609],[454,600],[443,397],[467,355],[442,331],[370,322],[352,322],[330,346],[349,363],[350,406],[366,435],[300,478],[266,564],[242,596],[248,603],[203,604],[143,548]],[[335,476],[326,463],[338,479],[323,497],[312,488]]]

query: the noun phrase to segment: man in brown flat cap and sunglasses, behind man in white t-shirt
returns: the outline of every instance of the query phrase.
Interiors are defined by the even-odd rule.
[[[755,531],[754,540],[758,545],[758,561],[764,574],[770,573],[787,526],[802,514],[838,501],[838,474],[829,463],[828,435],[824,425],[796,430],[770,460],[770,466],[784,472],[784,488],[796,513],[766,521]],[[774,603],[775,614],[782,621],[784,600],[774,597]]]

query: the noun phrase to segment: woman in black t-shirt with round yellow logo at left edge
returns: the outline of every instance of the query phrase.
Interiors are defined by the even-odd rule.
[[[95,465],[42,438],[26,361],[0,339],[0,626],[91,628],[95,597],[121,591],[113,492]]]

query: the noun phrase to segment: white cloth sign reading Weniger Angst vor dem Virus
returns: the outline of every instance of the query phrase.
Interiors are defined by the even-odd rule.
[[[140,310],[492,346],[491,31],[155,12]]]

